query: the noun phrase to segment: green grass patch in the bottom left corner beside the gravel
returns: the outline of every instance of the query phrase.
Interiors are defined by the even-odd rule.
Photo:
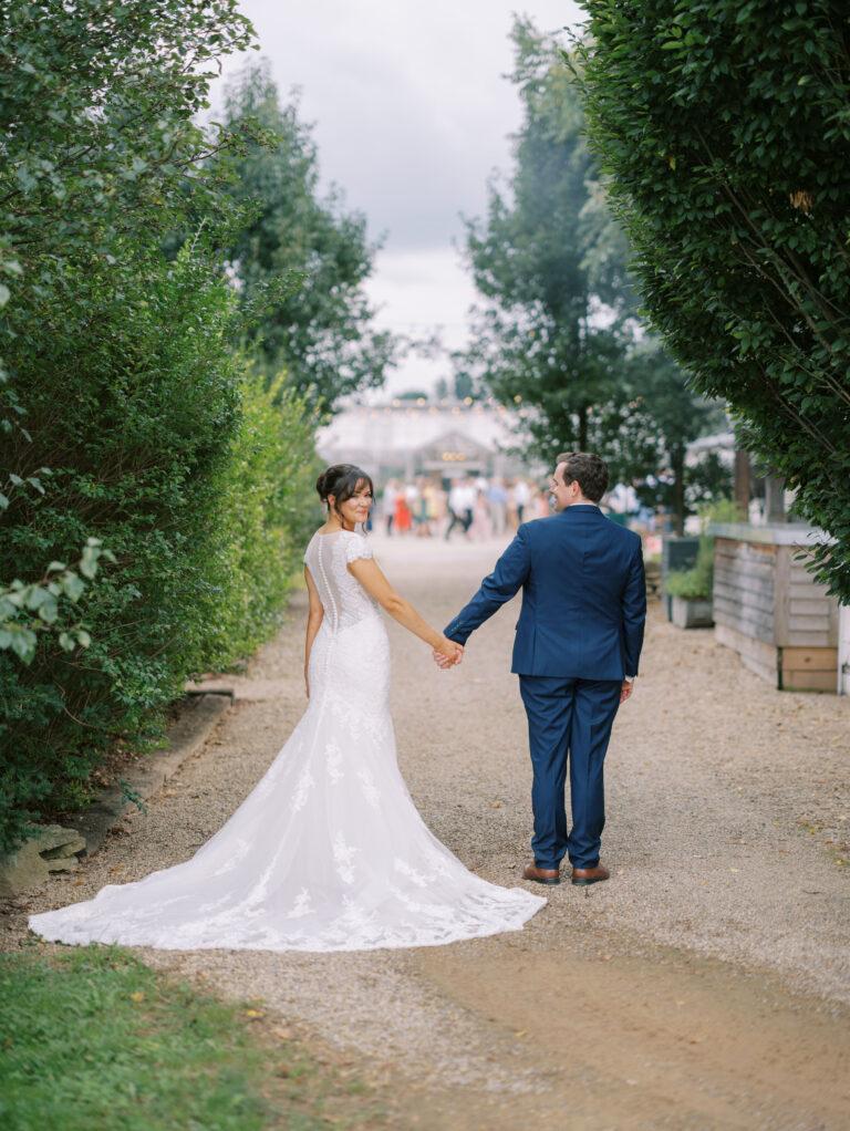
[[[261,1002],[199,993],[118,946],[0,955],[0,1126],[385,1125],[361,1081],[266,1026]]]

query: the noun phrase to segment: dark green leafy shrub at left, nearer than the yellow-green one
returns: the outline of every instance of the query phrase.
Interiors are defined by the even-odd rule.
[[[92,535],[115,563],[86,594],[85,651],[51,636],[26,666],[0,654],[7,848],[25,818],[81,803],[117,739],[160,734],[162,709],[203,665],[197,595],[239,428],[232,299],[197,250],[169,265],[127,249],[108,274],[78,269],[62,305],[53,291],[28,297],[7,359],[32,441],[9,456],[53,475],[45,495],[11,499],[0,577],[72,559]]]

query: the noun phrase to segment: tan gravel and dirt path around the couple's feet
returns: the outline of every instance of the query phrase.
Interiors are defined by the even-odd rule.
[[[376,544],[436,624],[498,552]],[[258,698],[238,703],[83,877],[51,881],[27,910],[184,860],[226,820],[303,710],[295,605],[291,629],[251,665]],[[450,673],[390,625],[414,800],[470,867],[507,886],[530,835],[515,621],[503,610]],[[848,1128],[849,724],[845,701],[778,693],[711,631],[679,632],[656,610],[607,762],[609,883],[547,889],[524,931],[450,947],[138,952],[264,998],[352,1059],[394,1126]],[[11,924],[5,944],[23,933]]]

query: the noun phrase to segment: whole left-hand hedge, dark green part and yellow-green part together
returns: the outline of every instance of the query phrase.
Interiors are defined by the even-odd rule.
[[[3,464],[53,474],[45,494],[12,495],[0,577],[74,561],[93,535],[115,561],[75,608],[89,647],[45,632],[28,665],[0,653],[0,853],[85,804],[115,744],[158,740],[187,677],[273,631],[314,515],[315,422],[233,349],[212,254],[122,250],[43,294],[25,279],[9,304],[32,440],[9,438]]]

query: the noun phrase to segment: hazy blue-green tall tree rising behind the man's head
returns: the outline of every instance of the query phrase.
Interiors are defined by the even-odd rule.
[[[539,450],[600,447],[598,409],[616,396],[626,342],[617,325],[593,319],[601,300],[584,262],[592,170],[583,114],[555,44],[527,19],[515,21],[513,40],[524,118],[508,191],[492,182],[486,222],[466,223],[475,286],[489,300],[469,360],[499,399],[532,409]]]

